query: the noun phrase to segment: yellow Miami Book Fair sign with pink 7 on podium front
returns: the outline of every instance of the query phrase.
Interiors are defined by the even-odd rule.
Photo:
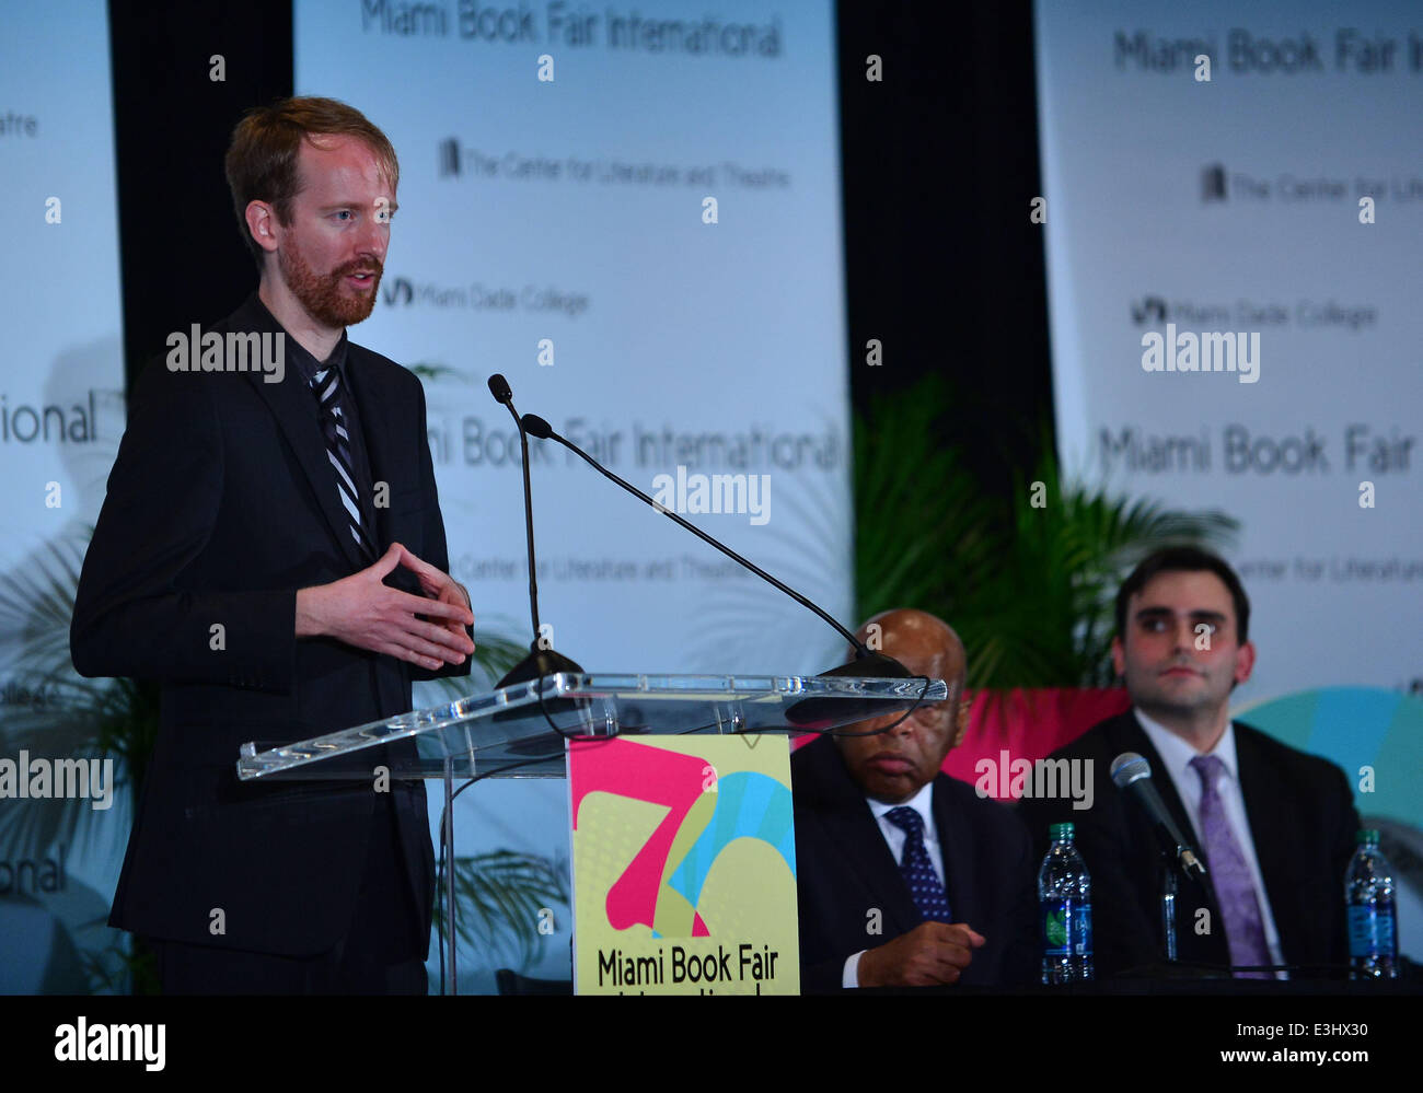
[[[800,992],[785,737],[573,740],[568,787],[576,993]]]

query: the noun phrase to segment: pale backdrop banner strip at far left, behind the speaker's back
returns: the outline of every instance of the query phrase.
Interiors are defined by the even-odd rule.
[[[67,595],[124,433],[114,115],[104,4],[7,6],[0,31],[0,761],[95,753]],[[58,675],[55,675],[58,673]],[[67,679],[65,679],[67,677]],[[97,754],[97,753],[95,753]],[[0,993],[101,989],[129,824],[122,766],[102,797],[0,800]],[[20,776],[23,777],[23,776]],[[118,784],[115,784],[118,780]]]

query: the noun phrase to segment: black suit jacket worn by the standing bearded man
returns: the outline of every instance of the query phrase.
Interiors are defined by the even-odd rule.
[[[280,327],[253,295],[212,329]],[[377,552],[398,541],[448,571],[420,380],[356,344],[346,379],[371,480],[388,487],[388,507],[374,509]],[[428,938],[434,868],[420,783],[393,783],[377,813],[374,777],[250,786],[235,771],[243,741],[290,743],[387,717],[410,709],[411,679],[468,673],[468,659],[427,672],[334,639],[296,639],[297,589],[364,566],[295,361],[279,383],[260,371],[169,371],[164,359],[148,366],[70,632],[81,675],[161,683],[111,925],[253,952],[326,952],[351,921],[373,817],[393,807],[408,868],[391,882],[410,885]],[[386,584],[420,593],[401,568]],[[374,769],[413,746],[369,754]],[[212,932],[218,908],[223,934]]]

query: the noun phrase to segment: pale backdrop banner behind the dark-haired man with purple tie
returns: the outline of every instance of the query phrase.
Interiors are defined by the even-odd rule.
[[[1423,687],[1417,6],[1040,3],[1036,34],[1063,458],[1241,521],[1242,700]]]

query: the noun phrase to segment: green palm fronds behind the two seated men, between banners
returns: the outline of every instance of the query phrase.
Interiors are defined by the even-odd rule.
[[[986,497],[939,441],[952,408],[931,376],[857,418],[859,618],[892,606],[939,615],[968,648],[973,689],[1110,686],[1111,606],[1127,571],[1165,545],[1221,549],[1237,521],[1063,481],[1046,434],[1033,480]]]

